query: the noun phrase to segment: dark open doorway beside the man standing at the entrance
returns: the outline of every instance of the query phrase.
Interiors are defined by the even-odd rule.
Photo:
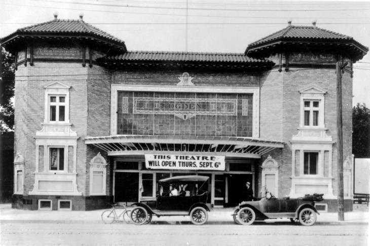
[[[252,174],[229,174],[228,177],[228,191],[229,191],[229,206],[236,206],[243,201],[243,190],[245,189],[245,183],[248,181],[253,187],[253,176]],[[255,194],[253,194],[255,195]]]

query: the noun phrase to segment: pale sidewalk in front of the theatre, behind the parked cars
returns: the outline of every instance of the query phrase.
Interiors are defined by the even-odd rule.
[[[49,211],[20,210],[11,208],[11,204],[0,204],[0,223],[103,223],[100,215],[106,209],[92,211]],[[234,224],[231,214],[233,208],[213,208],[209,213],[208,223]],[[347,212],[344,222],[338,221],[337,213],[320,213],[316,224],[368,224],[369,212]],[[189,217],[165,216],[153,217],[153,221],[168,222],[190,221]],[[266,222],[288,222],[288,219],[271,219]]]

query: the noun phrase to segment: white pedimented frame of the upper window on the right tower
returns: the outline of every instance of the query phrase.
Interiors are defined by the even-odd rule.
[[[324,128],[324,109],[325,109],[325,98],[324,94],[326,93],[323,89],[317,86],[309,86],[303,90],[300,90],[301,93],[301,106],[300,106],[300,128]],[[312,101],[318,101],[319,107],[318,108],[306,108],[305,107],[305,101],[310,101],[310,106]],[[305,110],[310,110],[310,124],[308,126],[305,126]],[[318,113],[318,122],[317,126],[314,126],[313,123],[313,109],[317,109]]]

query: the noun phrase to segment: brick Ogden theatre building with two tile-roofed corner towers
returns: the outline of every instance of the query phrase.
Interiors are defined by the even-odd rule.
[[[343,74],[345,209],[352,210],[353,38],[294,26],[243,53],[128,51],[79,20],[0,40],[16,59],[13,206],[89,210],[155,197],[157,181],[210,178],[208,203],[323,193],[337,207],[336,62]]]

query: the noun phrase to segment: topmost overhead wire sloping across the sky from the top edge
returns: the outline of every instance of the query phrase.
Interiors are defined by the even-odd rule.
[[[50,0],[32,0],[36,2],[48,2],[48,3],[62,3],[62,4],[76,4],[76,5],[89,5],[89,6],[106,6],[106,7],[122,7],[122,8],[139,8],[139,9],[171,9],[171,10],[186,10],[187,8],[184,7],[156,7],[156,6],[138,6],[138,5],[114,5],[114,4],[86,4],[86,3],[67,3],[63,1],[50,1]],[[370,9],[261,9],[261,10],[255,10],[255,9],[214,9],[214,8],[189,8],[189,10],[211,10],[211,11],[258,11],[258,12],[290,12],[290,11],[300,11],[300,12],[333,12],[333,11],[364,11],[364,10],[370,10]]]

